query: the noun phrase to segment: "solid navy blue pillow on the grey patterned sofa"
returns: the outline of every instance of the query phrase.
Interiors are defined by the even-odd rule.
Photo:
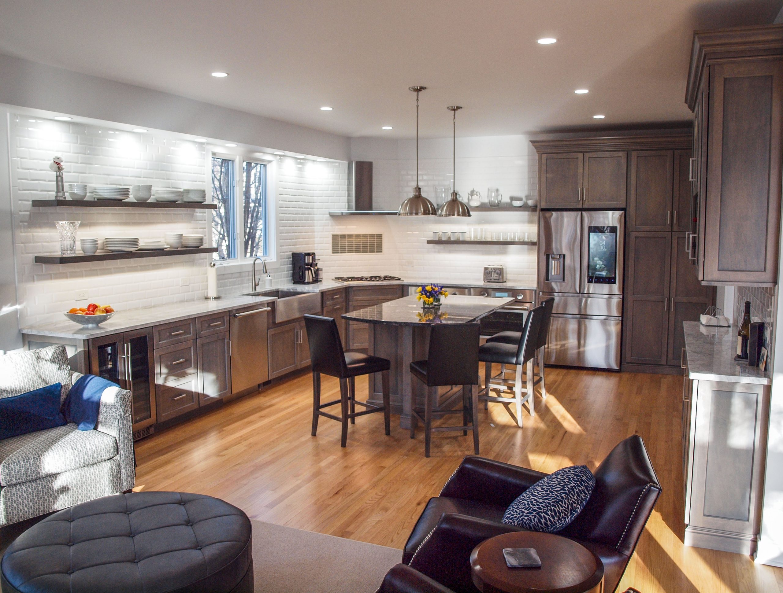
[[[26,394],[0,397],[0,439],[65,426],[60,413],[62,387],[62,383],[55,383]]]

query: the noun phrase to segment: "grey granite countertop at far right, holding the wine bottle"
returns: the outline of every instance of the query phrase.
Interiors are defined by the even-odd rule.
[[[684,322],[687,370],[691,379],[770,385],[767,372],[734,360],[737,354],[737,328],[708,327]]]

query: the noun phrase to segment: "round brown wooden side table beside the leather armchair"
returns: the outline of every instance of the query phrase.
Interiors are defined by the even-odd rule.
[[[540,568],[509,568],[503,548],[536,548]],[[473,583],[482,593],[601,593],[604,564],[576,541],[537,531],[490,537],[471,553]]]

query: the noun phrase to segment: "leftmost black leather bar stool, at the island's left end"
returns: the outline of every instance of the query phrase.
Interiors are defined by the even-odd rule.
[[[345,447],[348,440],[348,420],[355,424],[355,418],[373,412],[384,413],[384,425],[386,434],[389,434],[389,367],[391,363],[385,358],[370,356],[360,352],[345,352],[340,340],[340,332],[337,331],[337,322],[330,317],[320,315],[305,315],[305,329],[307,341],[310,345],[310,360],[312,364],[312,436],[316,436],[318,430],[318,417],[337,420],[342,424],[340,445]],[[340,379],[340,399],[321,403],[321,373]],[[381,373],[381,383],[384,392],[383,407],[363,401],[356,401],[356,386],[354,377],[357,375],[370,375],[373,372]],[[334,404],[341,404],[339,417],[323,408]],[[363,412],[355,411],[355,404],[367,408]]]

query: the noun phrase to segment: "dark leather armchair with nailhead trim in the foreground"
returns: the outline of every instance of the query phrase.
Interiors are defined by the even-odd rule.
[[[543,476],[491,459],[464,458],[421,513],[402,562],[456,593],[478,591],[471,580],[471,551],[489,537],[524,530],[501,523],[503,512]],[[558,534],[598,555],[604,562],[604,591],[615,591],[661,487],[638,435],[619,443],[594,476],[590,500]]]

